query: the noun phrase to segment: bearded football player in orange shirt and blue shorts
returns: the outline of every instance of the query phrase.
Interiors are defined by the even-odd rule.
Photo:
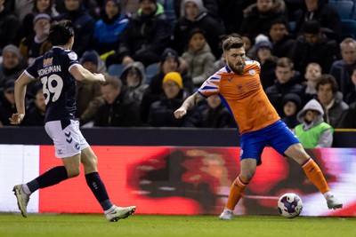
[[[343,203],[330,192],[318,164],[304,151],[298,138],[280,120],[271,105],[260,82],[260,64],[257,61],[245,61],[243,41],[239,37],[227,38],[223,43],[223,56],[226,66],[210,76],[174,112],[176,118],[182,118],[202,99],[219,95],[239,126],[241,170],[231,185],[229,198],[220,218],[231,220],[233,209],[254,177],[257,166],[262,164],[261,154],[266,145],[302,166],[312,184],[324,194],[328,209],[342,208]]]

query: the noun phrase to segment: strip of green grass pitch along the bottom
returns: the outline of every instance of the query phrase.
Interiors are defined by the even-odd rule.
[[[356,236],[354,217],[236,216],[231,221],[216,216],[134,215],[109,223],[103,215],[0,214],[1,237],[198,237]]]

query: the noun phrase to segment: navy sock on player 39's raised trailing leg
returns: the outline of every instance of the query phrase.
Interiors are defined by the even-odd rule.
[[[64,166],[56,166],[45,171],[42,175],[27,183],[29,191],[35,192],[39,188],[54,186],[68,178],[67,169]]]

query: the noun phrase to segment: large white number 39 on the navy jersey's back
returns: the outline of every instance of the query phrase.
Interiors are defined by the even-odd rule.
[[[59,75],[50,75],[49,77],[44,76],[41,78],[41,82],[44,84],[44,97],[45,104],[47,105],[50,98],[52,97],[52,102],[55,102],[61,96],[61,90],[63,89],[63,80]],[[55,86],[53,86],[55,84]]]

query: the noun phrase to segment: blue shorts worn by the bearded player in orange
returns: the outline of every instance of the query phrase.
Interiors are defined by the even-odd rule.
[[[279,154],[285,155],[284,152],[289,146],[300,143],[286,123],[281,120],[272,123],[262,130],[242,134],[240,142],[241,154],[239,160],[253,158],[257,160],[257,165],[262,164],[261,154],[264,146],[271,146]]]

